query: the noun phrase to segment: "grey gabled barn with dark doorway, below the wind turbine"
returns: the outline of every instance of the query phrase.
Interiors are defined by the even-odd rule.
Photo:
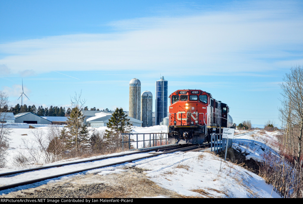
[[[28,124],[44,124],[51,125],[52,121],[42,118],[32,112],[18,113],[14,115],[16,123],[28,123]]]

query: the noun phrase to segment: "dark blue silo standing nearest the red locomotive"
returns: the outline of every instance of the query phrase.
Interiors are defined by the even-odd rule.
[[[167,117],[168,107],[168,82],[162,76],[160,80],[156,81],[156,119],[155,124],[160,125],[163,118]]]

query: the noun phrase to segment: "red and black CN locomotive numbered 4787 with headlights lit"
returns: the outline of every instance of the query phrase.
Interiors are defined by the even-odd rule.
[[[210,142],[211,132],[222,132],[233,124],[228,105],[208,92],[181,89],[169,99],[168,140],[172,144]]]

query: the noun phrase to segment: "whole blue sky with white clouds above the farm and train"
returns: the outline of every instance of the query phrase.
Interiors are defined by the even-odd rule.
[[[279,83],[303,65],[302,1],[1,1],[0,89],[12,105],[128,110],[128,83],[201,89],[235,123],[278,125]],[[154,105],[155,108],[155,105]]]

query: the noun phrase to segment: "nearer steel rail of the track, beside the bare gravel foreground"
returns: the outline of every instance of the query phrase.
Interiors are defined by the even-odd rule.
[[[183,147],[183,148],[179,148],[179,149],[170,150],[168,152],[155,153],[155,154],[151,154],[151,155],[148,155],[148,156],[143,156],[143,157],[139,157],[139,158],[133,158],[133,159],[125,160],[125,161],[122,161],[122,162],[115,162],[115,163],[106,164],[106,165],[102,165],[102,166],[91,167],[91,168],[88,168],[88,169],[82,169],[82,170],[77,170],[77,171],[73,171],[73,172],[57,174],[57,175],[53,175],[53,176],[47,176],[47,177],[34,179],[34,180],[30,180],[30,181],[15,183],[15,184],[7,185],[7,186],[0,186],[0,191],[15,188],[15,187],[18,187],[18,186],[24,186],[24,185],[44,181],[44,180],[47,180],[47,179],[53,179],[53,178],[57,178],[57,177],[61,177],[61,176],[66,176],[66,175],[70,175],[70,174],[84,172],[84,171],[88,171],[88,170],[92,170],[92,169],[99,169],[99,168],[108,167],[108,166],[115,166],[115,165],[119,165],[119,164],[130,163],[130,162],[140,160],[140,159],[147,159],[147,158],[159,156],[161,154],[169,154],[169,153],[172,153],[172,152],[184,151],[184,150],[187,150],[187,149],[195,149],[195,148],[198,148],[198,147],[199,147],[199,145]],[[137,153],[140,153],[140,152],[137,152]]]

